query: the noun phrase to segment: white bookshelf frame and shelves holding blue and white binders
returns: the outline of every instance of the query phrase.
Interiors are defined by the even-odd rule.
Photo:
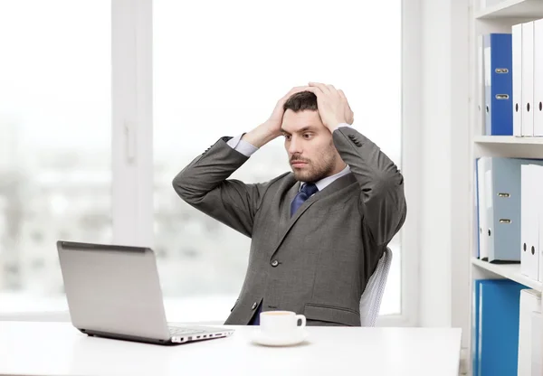
[[[470,20],[470,193],[472,202],[476,199],[475,190],[475,158],[481,156],[507,156],[522,158],[543,159],[543,137],[519,136],[484,136],[484,106],[480,105],[479,85],[483,82],[484,74],[478,66],[478,37],[485,33],[511,33],[511,26],[543,18],[543,0],[501,0],[500,3],[480,9],[480,0],[471,0]],[[471,229],[471,255],[476,254],[477,247],[477,212],[472,207]],[[520,264],[494,264],[471,256],[470,268],[470,296],[475,279],[507,278],[518,282],[527,288],[539,292],[543,291],[543,284],[537,280],[523,276],[520,273]],[[467,359],[467,373],[472,375],[472,306],[470,304],[470,343]],[[542,306],[543,308],[543,306]],[[543,335],[543,334],[542,334]]]

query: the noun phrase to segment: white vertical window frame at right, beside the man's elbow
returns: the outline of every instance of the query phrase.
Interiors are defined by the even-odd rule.
[[[418,273],[422,209],[422,0],[402,0],[402,174],[407,218],[400,230],[401,310],[380,315],[377,326],[414,326],[419,319]],[[393,255],[394,259],[394,255]]]

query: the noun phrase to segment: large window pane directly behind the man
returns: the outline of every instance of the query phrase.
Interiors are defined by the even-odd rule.
[[[182,202],[171,180],[219,137],[261,124],[291,87],[314,80],[343,89],[357,129],[401,166],[401,7],[154,1],[154,223],[166,296],[215,299],[214,319],[228,314],[250,240]],[[386,26],[376,14],[387,14]],[[280,138],[233,177],[259,182],[289,169]],[[399,237],[390,247],[385,315],[401,311]]]

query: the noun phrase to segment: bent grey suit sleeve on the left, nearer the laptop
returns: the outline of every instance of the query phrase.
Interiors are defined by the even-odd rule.
[[[254,216],[270,183],[228,180],[249,159],[228,146],[229,139],[219,139],[196,157],[176,175],[172,184],[179,197],[195,209],[252,237]]]

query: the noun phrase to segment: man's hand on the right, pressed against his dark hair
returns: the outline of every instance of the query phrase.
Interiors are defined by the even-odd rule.
[[[320,119],[330,132],[334,132],[341,123],[353,124],[355,115],[343,90],[336,89],[333,85],[310,82],[308,91],[317,96]]]

